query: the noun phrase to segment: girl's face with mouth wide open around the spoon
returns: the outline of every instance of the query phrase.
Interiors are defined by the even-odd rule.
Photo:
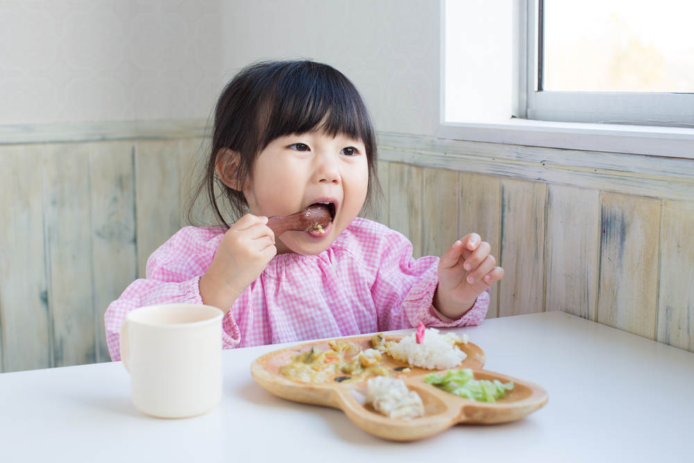
[[[357,217],[369,188],[362,142],[320,132],[287,135],[260,153],[251,185],[244,190],[251,214],[287,216],[314,203],[335,205],[325,233],[289,231],[276,237],[278,254],[325,251]]]

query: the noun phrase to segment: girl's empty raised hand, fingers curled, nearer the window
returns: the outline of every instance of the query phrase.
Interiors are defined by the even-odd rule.
[[[489,254],[491,246],[480,235],[471,233],[455,242],[439,260],[439,287],[434,307],[451,319],[459,319],[470,310],[477,296],[504,276]]]

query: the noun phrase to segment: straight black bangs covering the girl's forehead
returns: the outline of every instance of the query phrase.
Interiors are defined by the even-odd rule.
[[[261,104],[266,130],[260,149],[285,135],[320,131],[363,142],[373,153],[374,133],[362,97],[339,71],[316,62],[285,62]]]

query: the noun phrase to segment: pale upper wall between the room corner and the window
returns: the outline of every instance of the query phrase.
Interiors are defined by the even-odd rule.
[[[227,77],[260,58],[313,58],[352,79],[376,130],[439,128],[438,0],[226,0]]]

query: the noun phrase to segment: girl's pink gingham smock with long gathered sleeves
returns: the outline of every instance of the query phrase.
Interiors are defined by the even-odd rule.
[[[147,278],[135,280],[106,310],[106,342],[120,360],[119,332],[130,310],[163,303],[203,303],[200,277],[224,234],[221,227],[186,227],[155,251]],[[359,335],[417,326],[482,323],[486,292],[461,319],[432,306],[437,257],[412,258],[400,233],[366,219],[350,226],[318,255],[276,255],[223,319],[223,348]]]

